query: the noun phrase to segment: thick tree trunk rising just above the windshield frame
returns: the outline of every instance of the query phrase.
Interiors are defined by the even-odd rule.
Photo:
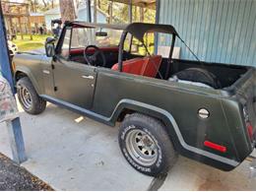
[[[75,6],[73,0],[59,0],[61,20],[74,21],[76,19]]]

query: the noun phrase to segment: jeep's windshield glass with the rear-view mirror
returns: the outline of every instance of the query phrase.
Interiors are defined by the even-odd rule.
[[[97,47],[118,46],[122,31],[112,29],[74,28],[71,48],[82,48],[88,45]]]

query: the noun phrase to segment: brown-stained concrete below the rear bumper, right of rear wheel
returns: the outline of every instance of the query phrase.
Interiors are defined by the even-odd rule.
[[[160,190],[255,191],[256,178],[250,178],[249,165],[250,161],[245,160],[234,170],[224,172],[195,160],[179,157]]]

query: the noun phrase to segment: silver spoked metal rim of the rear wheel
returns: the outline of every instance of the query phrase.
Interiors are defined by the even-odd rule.
[[[144,166],[151,166],[158,160],[156,141],[145,131],[130,131],[125,144],[131,158]]]

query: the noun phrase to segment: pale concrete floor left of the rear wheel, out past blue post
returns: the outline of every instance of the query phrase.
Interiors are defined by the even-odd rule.
[[[22,165],[56,190],[147,190],[153,177],[133,169],[119,151],[118,129],[49,105],[21,113],[29,160]],[[0,152],[10,157],[0,125]]]

